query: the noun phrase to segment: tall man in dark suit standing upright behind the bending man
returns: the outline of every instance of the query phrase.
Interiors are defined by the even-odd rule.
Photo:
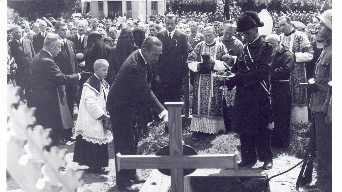
[[[163,44],[163,51],[156,64],[156,82],[162,84],[163,102],[180,101],[182,82],[188,77],[188,41],[185,33],[176,29],[176,17],[168,14],[165,18],[167,30],[157,33]]]

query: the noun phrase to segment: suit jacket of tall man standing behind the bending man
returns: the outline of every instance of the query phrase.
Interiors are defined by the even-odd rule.
[[[157,38],[163,44],[163,51],[155,66],[156,75],[167,83],[180,83],[183,77],[188,76],[189,68],[186,64],[188,58],[188,41],[185,33],[176,29],[170,40],[167,30],[157,33]]]

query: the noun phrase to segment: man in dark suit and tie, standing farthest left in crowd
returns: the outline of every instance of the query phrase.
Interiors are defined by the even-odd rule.
[[[17,64],[15,81],[18,86],[27,91],[27,81],[31,77],[30,63],[36,56],[32,42],[22,38],[22,28],[15,26],[13,28],[13,40],[8,43],[11,49],[12,57]],[[21,99],[24,99],[23,91],[20,92]]]

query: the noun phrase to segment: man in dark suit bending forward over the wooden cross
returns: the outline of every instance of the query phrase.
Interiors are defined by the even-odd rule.
[[[148,83],[152,78],[150,64],[159,59],[162,44],[156,37],[145,39],[141,50],[134,51],[123,63],[113,85],[110,87],[106,109],[109,111],[114,136],[115,155],[135,155],[138,146],[136,119],[138,106],[145,103],[152,107],[168,124],[168,112],[153,94]],[[116,163],[117,165],[117,163]],[[135,169],[116,169],[118,189],[139,191],[133,183],[144,182],[136,176]]]

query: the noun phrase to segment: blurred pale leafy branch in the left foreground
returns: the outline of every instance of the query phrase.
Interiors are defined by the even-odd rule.
[[[24,191],[76,191],[83,171],[61,170],[66,149],[46,150],[51,129],[35,125],[35,108],[19,105],[18,90],[8,86],[7,171]]]

